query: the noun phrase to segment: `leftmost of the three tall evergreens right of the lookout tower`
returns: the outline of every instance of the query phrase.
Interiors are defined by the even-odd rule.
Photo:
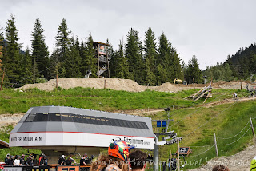
[[[126,58],[128,59],[130,78],[138,84],[144,83],[144,62],[142,59],[142,42],[138,31],[130,29],[126,40]]]

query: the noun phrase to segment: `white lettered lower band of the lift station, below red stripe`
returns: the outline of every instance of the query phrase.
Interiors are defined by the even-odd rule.
[[[154,137],[135,137],[101,133],[10,133],[9,146],[94,146],[108,147],[123,140],[138,149],[154,149]]]

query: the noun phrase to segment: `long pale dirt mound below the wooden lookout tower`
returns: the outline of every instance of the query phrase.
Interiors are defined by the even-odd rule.
[[[138,85],[137,82],[134,82],[129,79],[119,79],[119,78],[59,78],[58,86],[62,89],[70,89],[74,87],[83,87],[83,88],[94,88],[94,89],[116,89],[132,92],[140,92],[146,89],[146,86]],[[38,88],[41,90],[52,91],[56,87],[56,79],[52,79],[46,83],[38,84],[28,84],[24,85],[19,89],[30,89]]]

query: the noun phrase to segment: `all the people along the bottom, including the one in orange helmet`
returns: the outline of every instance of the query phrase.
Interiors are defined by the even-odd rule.
[[[90,165],[90,168],[83,168],[82,171],[145,171],[147,154],[141,150],[134,150],[130,153],[130,149],[134,149],[133,145],[126,141],[114,141],[109,145],[108,155],[101,154],[98,159],[91,163],[92,157],[87,157],[85,153],[80,159],[80,165]],[[34,155],[30,154],[25,161],[25,155],[10,156],[6,155],[6,165],[34,165]],[[75,161],[70,157],[62,155],[58,160],[58,165],[72,165]],[[41,154],[39,157],[39,165],[47,165],[47,157]],[[256,169],[256,157],[251,162],[251,169]],[[173,169],[171,169],[173,170]],[[176,169],[175,169],[176,170]],[[230,171],[225,165],[215,165],[212,171]]]

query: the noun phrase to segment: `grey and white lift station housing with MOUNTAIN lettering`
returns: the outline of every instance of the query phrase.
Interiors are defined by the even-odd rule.
[[[11,131],[10,146],[107,147],[118,139],[154,149],[151,119],[65,106],[32,107]]]

